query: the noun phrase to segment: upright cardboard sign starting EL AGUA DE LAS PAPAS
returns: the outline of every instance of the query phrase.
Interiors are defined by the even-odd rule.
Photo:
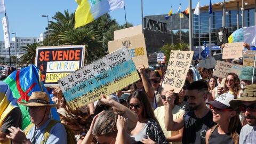
[[[164,78],[164,90],[179,93],[185,83],[194,51],[171,51]]]

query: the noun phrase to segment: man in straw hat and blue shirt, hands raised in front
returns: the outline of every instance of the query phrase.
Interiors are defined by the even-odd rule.
[[[67,143],[67,132],[61,123],[55,124],[50,131],[50,137],[44,139],[44,131],[47,124],[50,123],[50,109],[57,105],[50,104],[49,95],[45,92],[32,92],[28,102],[19,102],[20,105],[27,106],[33,127],[25,133],[16,127],[10,127],[10,136],[13,143]],[[28,129],[28,127],[25,128]]]

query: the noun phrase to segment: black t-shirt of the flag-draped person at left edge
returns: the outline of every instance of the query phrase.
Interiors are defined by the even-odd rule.
[[[4,119],[3,124],[1,125],[1,131],[7,134],[10,134],[8,130],[9,127],[20,127],[22,126],[22,113],[20,107],[15,107],[10,111],[10,113]]]

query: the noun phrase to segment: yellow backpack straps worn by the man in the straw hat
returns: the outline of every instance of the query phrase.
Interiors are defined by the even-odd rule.
[[[48,138],[50,137],[50,131],[52,129],[52,127],[57,124],[57,123],[60,123],[59,121],[55,120],[55,119],[52,119],[49,124],[47,124],[47,126],[45,127],[45,130],[44,130],[44,140],[41,141],[40,143],[43,144],[45,143]],[[25,132],[25,135],[27,135],[27,133],[30,131],[30,129],[34,126],[35,124],[29,124],[27,126],[27,128],[24,130]],[[67,143],[70,143],[70,144],[75,144],[76,143],[76,139],[75,139],[75,135],[74,133],[72,132],[71,129],[69,129],[69,127],[65,124],[63,124],[63,126],[65,127],[65,130],[67,132]]]

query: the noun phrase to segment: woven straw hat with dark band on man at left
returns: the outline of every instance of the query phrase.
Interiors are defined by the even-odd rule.
[[[50,104],[49,95],[46,92],[32,92],[28,99],[28,102],[18,102],[20,105],[35,107],[35,106],[46,106],[46,107],[56,107],[58,105]]]

